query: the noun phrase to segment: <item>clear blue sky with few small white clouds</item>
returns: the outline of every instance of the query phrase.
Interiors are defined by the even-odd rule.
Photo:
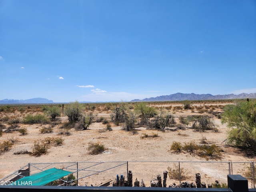
[[[256,92],[255,0],[0,0],[0,100]]]

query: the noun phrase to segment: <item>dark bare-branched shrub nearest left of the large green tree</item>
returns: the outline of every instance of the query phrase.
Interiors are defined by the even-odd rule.
[[[192,125],[197,131],[214,130],[218,131],[217,126],[214,124],[212,118],[207,115],[194,116],[194,122]]]

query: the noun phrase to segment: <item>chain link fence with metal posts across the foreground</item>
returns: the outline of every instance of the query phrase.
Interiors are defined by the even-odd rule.
[[[194,183],[195,174],[201,175],[201,182],[206,186],[214,184],[228,184],[228,174],[240,174],[248,179],[248,187],[255,188],[256,168],[255,162],[138,162],[138,161],[104,161],[104,162],[54,162],[54,163],[29,163],[4,181],[17,180],[21,176],[28,176],[50,168],[58,168],[73,173],[69,182],[77,182],[81,186],[100,186],[104,183],[112,186],[116,182],[117,175],[128,178],[128,171],[132,171],[133,183],[137,179],[143,181],[146,187],[150,187],[151,180],[163,172],[168,171],[166,180],[167,187],[180,185],[182,182]],[[2,181],[0,180],[0,181]]]

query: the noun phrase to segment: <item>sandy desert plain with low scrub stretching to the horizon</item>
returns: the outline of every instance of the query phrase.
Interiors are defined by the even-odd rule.
[[[64,104],[64,106],[62,104],[2,105],[0,112],[2,130],[0,136],[0,178],[8,176],[29,162],[88,161],[138,162],[134,164],[134,170],[132,170],[134,181],[135,178],[142,179],[142,176],[136,174],[136,171],[143,172],[150,166],[158,167],[154,172],[147,171],[146,175],[150,175],[150,179],[156,178],[158,174],[162,175],[170,163],[163,163],[162,166],[159,166],[159,162],[241,162],[240,167],[236,170],[242,174],[246,169],[242,162],[255,161],[255,156],[248,150],[241,150],[226,144],[229,128],[226,124],[221,123],[221,113],[224,106],[234,102],[236,101],[193,101],[190,103],[189,109],[184,109],[182,102],[146,102],[146,106],[154,108],[158,115],[171,114],[174,118],[173,124],[164,127],[164,129],[140,126],[138,122],[140,122],[141,116],[135,113],[136,126],[129,131],[124,127],[124,123],[116,125],[112,122],[111,117],[115,107],[119,105],[124,105],[127,113],[135,112],[134,108],[138,105],[136,102],[80,104],[83,114],[93,114],[94,116],[92,123],[86,130],[82,130],[77,125],[68,126],[68,116],[65,114],[65,108],[68,104]],[[24,118],[28,115],[46,116],[45,109],[52,106],[60,109],[60,116],[57,116],[55,120],[48,118],[46,123],[24,123]],[[197,130],[193,128],[195,121],[184,121],[188,116],[208,116],[214,123],[214,128],[212,130]],[[153,117],[150,118],[150,120],[152,119]],[[34,146],[43,143],[48,148],[47,152],[45,154],[34,153]],[[186,150],[184,147],[181,150],[174,150],[173,144],[175,143],[180,143],[182,146],[188,143],[198,146],[214,145],[216,151],[207,155],[196,150]],[[6,148],[3,147],[4,144],[6,144]],[[92,154],[92,151],[88,149],[90,144],[101,144],[104,146],[104,150],[98,154]],[[148,162],[152,163],[148,164]],[[187,173],[184,173],[188,175],[185,179],[194,182],[194,174],[201,172],[204,182],[209,183],[215,180],[225,182],[228,164],[202,164],[205,164],[205,167],[197,164],[197,169],[194,169],[188,163]],[[224,176],[221,176],[222,178],[214,173],[218,173],[217,167],[223,167],[224,171],[221,174]],[[111,176],[112,180],[116,174]],[[143,180],[146,186],[150,186],[149,179],[143,178]],[[80,185],[89,186],[97,186],[101,182],[93,177],[79,181]],[[167,186],[173,182],[178,183],[177,180],[168,178]]]

